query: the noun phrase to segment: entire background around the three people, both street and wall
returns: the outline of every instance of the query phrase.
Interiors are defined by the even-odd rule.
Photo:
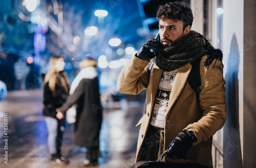
[[[103,105],[99,167],[132,167],[145,92],[121,94],[117,78],[134,52],[157,35],[157,7],[174,1],[1,0],[0,167],[56,167],[48,160],[41,75],[49,58],[59,55],[72,83],[88,54],[98,61]],[[223,52],[227,121],[213,137],[213,165],[256,167],[255,1],[182,2],[193,11],[191,30]],[[74,146],[73,127],[67,124],[64,134],[62,152],[71,163],[63,167],[84,159],[86,149]]]

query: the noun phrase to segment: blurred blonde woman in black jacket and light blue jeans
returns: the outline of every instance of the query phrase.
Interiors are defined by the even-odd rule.
[[[65,120],[56,118],[56,108],[60,107],[69,94],[69,81],[65,72],[63,58],[52,56],[49,60],[50,70],[44,78],[44,107],[42,114],[45,118],[48,137],[47,144],[50,159],[57,164],[68,164],[69,161],[61,155],[61,144]]]

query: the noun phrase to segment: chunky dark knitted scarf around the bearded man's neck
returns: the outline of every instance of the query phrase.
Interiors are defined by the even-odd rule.
[[[208,68],[214,59],[222,62],[222,51],[211,46],[201,34],[190,31],[177,44],[168,48],[159,48],[154,62],[163,71],[172,71],[207,54],[205,66]]]

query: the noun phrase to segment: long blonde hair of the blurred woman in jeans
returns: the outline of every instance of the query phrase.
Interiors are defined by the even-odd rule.
[[[67,77],[66,73],[63,73],[63,75],[58,75],[56,68],[55,68],[55,64],[56,62],[62,59],[62,57],[53,55],[50,60],[50,70],[46,73],[45,79],[44,79],[44,85],[49,82],[49,88],[50,90],[55,93],[55,86],[56,86],[56,82],[58,85],[60,85],[60,83],[58,83],[57,81],[57,77],[60,79],[61,85],[65,88],[66,93],[69,93],[69,80]]]

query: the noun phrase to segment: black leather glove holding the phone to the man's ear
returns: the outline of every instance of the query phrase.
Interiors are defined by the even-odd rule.
[[[136,54],[141,60],[150,61],[156,57],[156,52],[158,51],[159,41],[156,39],[147,40],[147,42],[140,48],[139,52]]]

